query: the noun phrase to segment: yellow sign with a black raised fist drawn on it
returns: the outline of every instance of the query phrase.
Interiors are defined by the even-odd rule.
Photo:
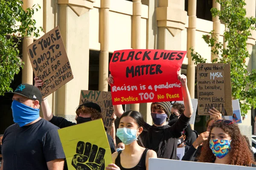
[[[58,134],[69,170],[105,170],[113,162],[102,119],[59,129]]]

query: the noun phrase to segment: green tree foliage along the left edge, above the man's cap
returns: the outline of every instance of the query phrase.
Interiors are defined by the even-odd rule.
[[[12,91],[10,84],[23,68],[18,43],[24,36],[39,37],[39,29],[43,30],[36,28],[35,20],[31,19],[41,7],[34,5],[25,11],[22,5],[22,0],[0,0],[0,95]]]

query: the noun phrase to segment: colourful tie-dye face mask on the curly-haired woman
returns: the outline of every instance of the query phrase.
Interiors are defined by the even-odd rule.
[[[217,158],[221,159],[230,151],[230,142],[229,140],[210,139],[210,149]]]

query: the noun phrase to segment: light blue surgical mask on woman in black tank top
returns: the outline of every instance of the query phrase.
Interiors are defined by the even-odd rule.
[[[116,136],[125,144],[131,144],[132,142],[138,140],[137,139],[137,129],[129,129],[129,128],[118,128],[116,131]]]

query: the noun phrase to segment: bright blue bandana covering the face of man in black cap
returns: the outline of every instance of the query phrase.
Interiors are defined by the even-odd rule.
[[[39,117],[39,109],[31,108],[14,100],[12,102],[13,121],[20,127],[27,125]]]

